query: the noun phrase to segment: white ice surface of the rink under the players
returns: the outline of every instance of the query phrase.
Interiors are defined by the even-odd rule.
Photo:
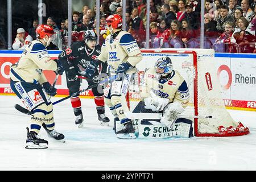
[[[52,101],[60,97],[52,98]],[[14,109],[16,96],[0,96],[0,170],[256,170],[256,112],[228,110],[249,127],[242,137],[122,140],[100,126],[92,99],[82,99],[85,128],[75,126],[69,100],[54,107],[55,129],[66,142],[48,140],[46,150],[27,150],[30,117]],[[106,114],[113,120],[108,108]]]

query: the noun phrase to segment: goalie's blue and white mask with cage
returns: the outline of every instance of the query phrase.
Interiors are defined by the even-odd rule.
[[[155,63],[155,72],[161,77],[168,76],[173,70],[172,61],[170,57],[162,57]]]

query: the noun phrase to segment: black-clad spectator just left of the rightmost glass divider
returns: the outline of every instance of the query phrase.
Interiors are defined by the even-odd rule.
[[[189,21],[189,24],[191,24],[191,27],[194,30],[197,30],[199,28],[199,18],[197,18],[196,13],[193,11],[193,5],[192,3],[188,3],[185,8],[186,8],[186,12],[185,12],[185,19],[187,19]]]

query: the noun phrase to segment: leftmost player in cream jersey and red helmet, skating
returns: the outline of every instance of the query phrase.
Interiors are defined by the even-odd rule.
[[[49,96],[56,95],[57,89],[49,84],[43,74],[43,70],[55,71],[59,75],[64,72],[59,61],[52,60],[46,49],[53,34],[51,27],[40,24],[36,28],[37,39],[28,44],[18,63],[10,68],[11,89],[26,109],[33,113],[30,119],[31,131],[27,127],[25,148],[48,148],[47,140],[38,136],[42,125],[49,137],[64,141],[64,135],[55,130],[53,106],[49,99]]]

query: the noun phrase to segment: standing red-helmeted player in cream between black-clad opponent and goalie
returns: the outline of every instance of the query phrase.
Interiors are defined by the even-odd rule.
[[[111,82],[105,92],[105,104],[108,105],[115,121],[120,121],[123,129],[116,132],[117,138],[134,139],[134,128],[131,119],[126,117],[121,99],[127,94],[131,77],[136,72],[135,65],[142,60],[142,53],[133,36],[122,28],[122,18],[118,14],[106,18],[110,35],[102,44],[101,54],[96,62],[88,65],[86,76],[92,77],[95,68],[101,62],[108,61],[110,76],[125,75]],[[127,106],[126,106],[127,107]]]

